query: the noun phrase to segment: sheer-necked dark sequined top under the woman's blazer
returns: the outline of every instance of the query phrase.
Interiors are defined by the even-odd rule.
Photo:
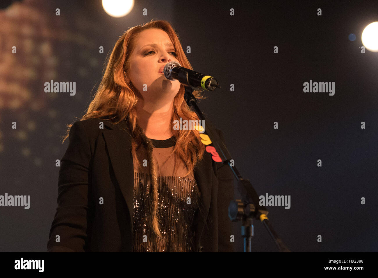
[[[174,148],[175,138],[150,140],[159,168],[157,217],[162,237],[158,238],[152,228],[149,167],[138,168],[134,163],[133,251],[193,252],[194,221],[201,193],[192,173],[182,178],[187,171],[183,161],[177,162],[175,172],[174,156],[165,161]],[[137,155],[139,161],[147,161],[145,148],[138,149]]]

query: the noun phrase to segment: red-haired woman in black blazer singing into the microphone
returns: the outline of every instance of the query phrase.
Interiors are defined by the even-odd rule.
[[[198,117],[183,85],[164,77],[170,61],[192,69],[166,21],[116,42],[87,113],[64,138],[49,252],[234,251],[232,171],[211,159],[198,130],[174,129]]]

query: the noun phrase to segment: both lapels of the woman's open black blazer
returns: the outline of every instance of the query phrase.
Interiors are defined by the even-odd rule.
[[[123,121],[118,125],[113,125],[107,120],[102,120],[104,125],[110,129],[104,129],[105,144],[108,150],[110,162],[112,163],[115,178],[121,189],[122,195],[129,208],[131,219],[131,232],[133,234],[133,214],[134,214],[134,165],[131,153],[131,136],[127,131],[126,122]],[[206,224],[211,202],[212,187],[212,160],[211,155],[205,151],[203,159],[199,162],[194,170],[194,177],[198,188],[201,192],[201,210],[203,214],[198,213],[195,222],[195,247],[197,248],[200,237]],[[206,215],[206,216],[205,216]],[[197,250],[195,250],[197,251]]]

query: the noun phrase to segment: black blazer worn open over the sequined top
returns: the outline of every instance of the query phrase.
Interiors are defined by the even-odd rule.
[[[216,131],[222,139],[222,131]],[[234,223],[228,218],[228,205],[234,199],[230,167],[214,162],[205,152],[194,177],[208,214],[207,219],[200,214],[195,219],[195,250],[233,252]],[[133,184],[126,122],[113,125],[97,118],[74,122],[60,165],[48,252],[132,252]]]

